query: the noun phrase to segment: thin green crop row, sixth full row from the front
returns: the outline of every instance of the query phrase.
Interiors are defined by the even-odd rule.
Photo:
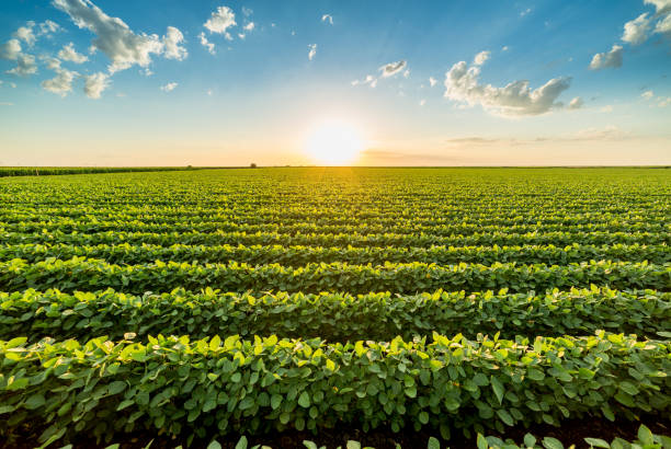
[[[385,233],[389,226],[369,225],[364,222],[352,222],[346,225],[319,225],[306,222],[263,222],[263,223],[241,223],[236,221],[208,221],[208,222],[147,222],[145,220],[72,220],[66,219],[48,219],[44,221],[27,221],[27,222],[0,222],[0,229],[3,232],[32,233],[60,231],[60,232],[105,232],[105,231],[126,231],[126,232],[281,232],[283,234],[343,234],[343,233],[360,233],[360,234],[380,234]],[[458,237],[458,235],[481,235],[486,233],[505,232],[505,233],[549,233],[564,231],[564,225],[512,225],[512,226],[482,226],[478,223],[467,225],[436,225],[423,226],[416,222],[397,222],[394,225],[394,232],[400,235],[411,235],[422,233],[436,237]],[[573,225],[571,232],[649,232],[663,233],[670,232],[671,226],[666,222],[650,223],[588,223]]]

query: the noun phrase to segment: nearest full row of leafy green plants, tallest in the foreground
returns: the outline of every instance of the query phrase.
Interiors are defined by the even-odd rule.
[[[133,335],[127,335],[133,338]],[[0,342],[0,435],[46,423],[50,441],[138,429],[182,437],[348,423],[503,431],[603,414],[671,412],[669,343],[590,337],[327,344],[254,337],[146,345],[99,337]]]

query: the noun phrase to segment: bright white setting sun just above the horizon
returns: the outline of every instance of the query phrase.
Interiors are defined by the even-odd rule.
[[[328,120],[315,126],[305,140],[305,152],[325,165],[346,165],[356,160],[363,141],[356,128],[346,122]]]

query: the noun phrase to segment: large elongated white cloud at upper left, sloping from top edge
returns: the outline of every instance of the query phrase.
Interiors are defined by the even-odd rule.
[[[69,15],[78,27],[90,30],[96,35],[93,46],[112,61],[109,67],[111,73],[134,65],[147,67],[151,64],[151,55],[166,53],[168,58],[185,56],[185,50],[180,50],[181,47],[177,46],[179,42],[175,43],[175,38],[181,36],[181,33],[178,36],[174,32],[179,32],[177,28],[169,27],[168,35],[161,41],[156,34],[134,33],[123,20],[109,16],[90,0],[53,0],[53,2],[56,8]],[[167,50],[167,44],[174,46]]]

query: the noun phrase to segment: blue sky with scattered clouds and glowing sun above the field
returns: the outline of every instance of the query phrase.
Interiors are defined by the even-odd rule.
[[[0,165],[671,164],[671,0],[2,0]]]

